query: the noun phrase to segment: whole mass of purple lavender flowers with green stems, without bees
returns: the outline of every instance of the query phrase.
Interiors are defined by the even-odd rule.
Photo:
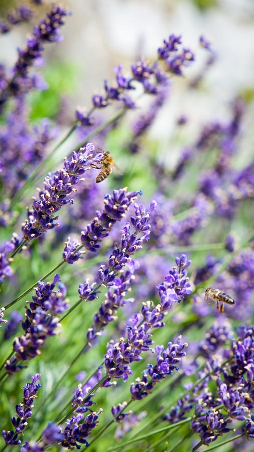
[[[251,451],[251,102],[237,95],[227,119],[202,119],[185,142],[183,111],[170,167],[150,129],[174,89],[200,95],[216,64],[197,36],[208,59],[195,73],[195,52],[170,34],[153,60],[118,64],[59,140],[59,116],[36,122],[33,109],[49,89],[37,63],[70,12],[32,3],[0,22],[4,35],[45,14],[14,67],[0,67],[0,450]]]

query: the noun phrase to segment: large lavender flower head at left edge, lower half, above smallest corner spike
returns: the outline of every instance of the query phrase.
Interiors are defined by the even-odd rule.
[[[58,289],[54,288],[58,284]],[[16,337],[13,343],[15,356],[7,360],[6,372],[9,375],[20,372],[24,367],[19,363],[31,360],[40,355],[40,349],[47,337],[56,334],[60,326],[55,315],[61,314],[68,304],[64,301],[66,295],[65,286],[59,275],[55,275],[53,283],[39,281],[36,296],[33,296],[26,310],[26,319],[22,322],[25,334]],[[48,313],[50,311],[50,313]]]

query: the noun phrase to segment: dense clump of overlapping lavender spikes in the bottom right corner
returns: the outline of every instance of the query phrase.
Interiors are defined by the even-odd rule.
[[[217,322],[208,330],[199,348],[206,360],[206,371],[199,373],[199,383],[189,385],[192,394],[187,393],[179,399],[176,408],[173,407],[166,415],[169,422],[175,423],[186,418],[186,413],[194,406],[191,426],[200,435],[203,444],[209,444],[228,432],[231,429],[228,424],[236,420],[244,421],[243,431],[251,435],[254,408],[253,326],[242,326],[237,332],[238,339],[231,339],[228,322]],[[215,391],[211,391],[211,380],[216,384]]]

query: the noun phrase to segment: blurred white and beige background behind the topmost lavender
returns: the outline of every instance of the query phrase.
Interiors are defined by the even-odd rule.
[[[72,11],[61,30],[64,41],[48,45],[47,57],[67,59],[78,67],[73,108],[77,103],[90,107],[91,95],[102,90],[105,78],[113,78],[117,64],[129,71],[130,63],[140,55],[154,59],[171,33],[181,34],[185,47],[195,52],[196,61],[185,71],[187,78],[198,72],[207,57],[198,45],[201,34],[211,41],[217,60],[201,92],[193,90],[187,95],[186,83],[174,78],[171,101],[153,134],[167,137],[181,114],[191,119],[191,133],[195,134],[200,123],[227,115],[232,99],[253,86],[253,0],[217,0],[216,7],[206,10],[191,0],[69,0],[64,4]],[[40,17],[48,7],[46,1],[38,8]],[[15,61],[16,47],[25,44],[28,30],[22,25],[1,37],[2,61],[10,65]]]

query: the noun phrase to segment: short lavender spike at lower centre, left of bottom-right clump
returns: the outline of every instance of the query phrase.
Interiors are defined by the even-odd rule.
[[[142,379],[136,379],[136,383],[131,384],[131,395],[133,400],[142,400],[152,392],[153,387],[160,380],[172,375],[173,371],[179,370],[178,364],[186,355],[184,351],[188,344],[181,342],[181,336],[175,343],[169,342],[166,350],[163,346],[157,346],[157,364],[153,366],[148,364],[147,369],[143,372]]]

